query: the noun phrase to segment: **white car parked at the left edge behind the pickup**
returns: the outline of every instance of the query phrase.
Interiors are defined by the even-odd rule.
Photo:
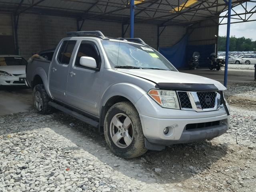
[[[27,61],[18,55],[0,55],[0,85],[25,85]]]

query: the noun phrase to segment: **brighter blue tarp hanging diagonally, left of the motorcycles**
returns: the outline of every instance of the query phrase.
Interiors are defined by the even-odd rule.
[[[180,42],[171,47],[159,48],[159,52],[170,61],[176,68],[184,67],[186,63],[186,47],[188,35],[185,35]]]

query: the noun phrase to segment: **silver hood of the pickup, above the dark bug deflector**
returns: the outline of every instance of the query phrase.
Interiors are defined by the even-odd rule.
[[[214,84],[218,90],[226,90],[226,87],[216,80],[188,73],[150,69],[118,69],[118,71],[138,76],[155,83]]]

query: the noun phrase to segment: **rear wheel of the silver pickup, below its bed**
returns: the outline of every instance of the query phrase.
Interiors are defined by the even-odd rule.
[[[38,84],[34,87],[33,104],[37,113],[51,114],[54,109],[50,105],[48,105],[48,102],[50,100],[51,99],[46,93],[43,84]]]

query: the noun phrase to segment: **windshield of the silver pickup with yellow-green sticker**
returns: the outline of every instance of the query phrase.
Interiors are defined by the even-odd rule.
[[[177,71],[159,52],[144,45],[102,41],[113,68],[142,68]]]

